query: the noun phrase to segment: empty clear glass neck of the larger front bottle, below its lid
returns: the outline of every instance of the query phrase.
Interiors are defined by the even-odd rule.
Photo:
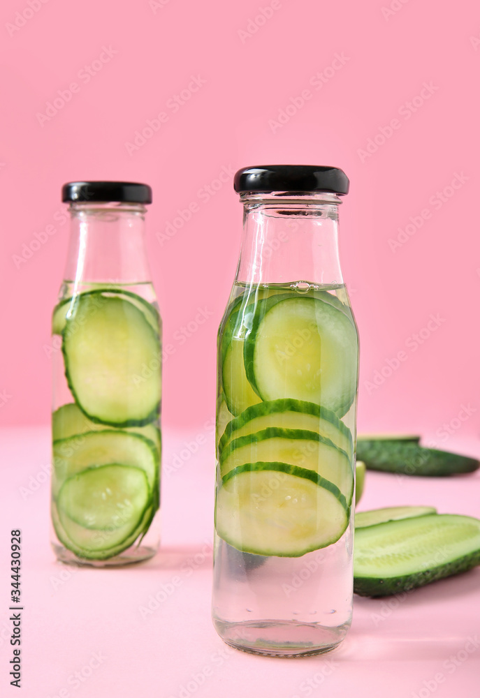
[[[248,193],[240,200],[244,225],[238,283],[343,283],[337,195]]]

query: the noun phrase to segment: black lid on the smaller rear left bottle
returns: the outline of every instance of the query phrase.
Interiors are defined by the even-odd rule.
[[[133,181],[68,181],[61,188],[61,200],[151,204],[152,187]]]

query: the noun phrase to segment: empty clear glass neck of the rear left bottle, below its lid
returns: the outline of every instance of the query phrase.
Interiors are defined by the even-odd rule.
[[[75,286],[150,281],[145,212],[141,204],[72,203],[65,280]]]

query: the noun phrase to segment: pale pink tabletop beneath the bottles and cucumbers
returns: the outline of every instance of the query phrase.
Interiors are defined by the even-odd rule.
[[[398,597],[355,597],[347,639],[328,655],[283,660],[228,648],[210,621],[212,433],[190,459],[175,459],[180,467],[166,468],[197,437],[164,434],[170,474],[163,477],[159,554],[142,565],[97,570],[61,565],[50,550],[48,430],[1,433],[2,697],[478,697],[480,567]],[[478,440],[452,438],[449,448],[480,456]],[[480,517],[480,473],[367,474],[360,509],[402,504]],[[22,529],[21,692],[8,677],[12,528]]]

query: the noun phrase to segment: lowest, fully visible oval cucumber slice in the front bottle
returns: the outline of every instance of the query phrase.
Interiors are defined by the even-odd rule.
[[[217,533],[246,553],[300,557],[335,543],[348,523],[337,487],[289,463],[247,463],[217,493]]]

